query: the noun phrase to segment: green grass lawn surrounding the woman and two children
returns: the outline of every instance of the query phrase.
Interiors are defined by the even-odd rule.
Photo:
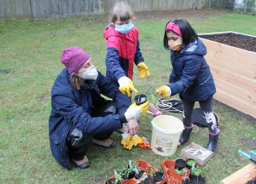
[[[124,150],[119,144],[121,136],[114,132],[112,139],[118,143],[114,149],[93,146],[89,151],[90,168],[68,171],[57,164],[49,149],[48,118],[53,81],[64,68],[60,63],[62,50],[71,45],[86,49],[97,69],[105,73],[106,45],[102,31],[106,21],[93,23],[90,18],[0,23],[0,183],[102,183],[113,174],[114,168],[122,168],[128,160],[144,159],[162,169],[163,160],[181,157],[181,148],[188,145],[178,147],[171,157],[161,157],[139,147]],[[256,34],[256,16],[224,13],[188,20],[198,33]],[[139,92],[148,96],[165,85],[170,74],[170,52],[163,49],[166,21],[136,22],[141,51],[151,76],[141,81],[134,68],[133,81]],[[214,110],[221,120],[221,135],[214,157],[203,166],[207,183],[218,183],[250,162],[240,157],[238,150],[256,150],[254,118],[221,103],[215,103]],[[181,118],[181,114],[171,115]],[[149,140],[151,121],[151,115],[144,117],[139,132]],[[207,136],[207,129],[199,128],[190,141],[206,146]]]

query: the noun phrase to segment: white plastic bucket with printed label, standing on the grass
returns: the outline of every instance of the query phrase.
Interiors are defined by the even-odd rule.
[[[152,151],[162,155],[171,156],[177,150],[184,126],[180,119],[168,115],[160,115],[152,119]]]

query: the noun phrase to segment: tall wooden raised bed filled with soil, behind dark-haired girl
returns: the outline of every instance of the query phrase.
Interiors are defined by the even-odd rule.
[[[207,47],[206,60],[217,88],[214,99],[256,117],[256,36],[229,31],[199,37]],[[212,41],[218,37],[222,43]]]

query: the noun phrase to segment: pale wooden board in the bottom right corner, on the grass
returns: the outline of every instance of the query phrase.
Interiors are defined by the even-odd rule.
[[[221,180],[220,184],[245,184],[252,179],[256,179],[256,164],[251,163]]]

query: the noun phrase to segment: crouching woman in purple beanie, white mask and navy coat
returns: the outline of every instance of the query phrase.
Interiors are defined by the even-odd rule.
[[[79,47],[65,49],[60,60],[65,69],[52,89],[51,150],[64,168],[71,168],[70,159],[77,167],[88,168],[88,147],[114,147],[115,142],[108,138],[127,121],[129,132],[136,133],[137,119],[146,113],[149,102],[130,106],[130,98],[98,72],[90,55]],[[113,100],[106,100],[101,94]]]

